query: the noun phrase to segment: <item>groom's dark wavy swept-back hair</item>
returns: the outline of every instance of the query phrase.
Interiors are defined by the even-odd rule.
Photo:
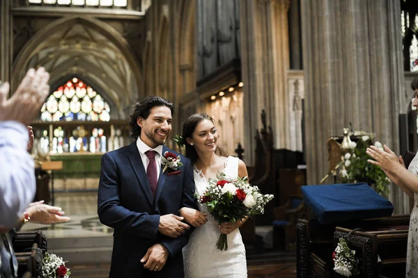
[[[157,106],[167,106],[171,110],[171,115],[174,114],[174,105],[167,99],[164,99],[164,97],[146,97],[134,103],[132,106],[132,115],[129,116],[132,138],[138,139],[141,135],[141,126],[137,124],[138,117],[147,119],[151,113],[151,109]]]

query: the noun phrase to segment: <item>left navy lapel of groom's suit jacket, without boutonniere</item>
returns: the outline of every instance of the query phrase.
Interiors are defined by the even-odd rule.
[[[139,184],[144,190],[146,198],[150,202],[150,205],[153,206],[153,193],[151,192],[150,183],[148,177],[146,176],[144,163],[142,163],[141,154],[139,154],[137,141],[134,141],[128,148],[127,158],[129,158],[132,165],[132,169],[137,175]]]

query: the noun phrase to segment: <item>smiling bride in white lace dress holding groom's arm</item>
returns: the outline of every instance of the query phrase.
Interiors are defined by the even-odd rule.
[[[194,163],[194,182],[196,194],[206,191],[208,179],[215,179],[217,172],[224,172],[228,177],[248,175],[245,163],[238,158],[224,154],[217,147],[218,134],[215,120],[206,114],[194,114],[183,124],[186,156]],[[221,225],[208,215],[205,206],[199,204],[199,211],[181,208],[183,216],[196,229],[183,248],[186,278],[206,277],[247,277],[245,247],[238,229],[245,218],[235,224]],[[219,234],[226,234],[228,250],[217,250]]]

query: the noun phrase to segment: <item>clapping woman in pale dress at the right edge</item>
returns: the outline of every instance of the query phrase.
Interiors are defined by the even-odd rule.
[[[411,87],[415,91],[412,106],[418,108],[418,78],[412,80]],[[374,161],[369,160],[370,163],[382,167],[389,179],[396,183],[409,197],[414,198],[414,208],[412,208],[410,215],[408,232],[406,277],[418,278],[418,153],[412,159],[408,170],[405,168],[402,156],[397,157],[387,145],[384,146],[384,150],[371,146],[366,153],[374,159]]]

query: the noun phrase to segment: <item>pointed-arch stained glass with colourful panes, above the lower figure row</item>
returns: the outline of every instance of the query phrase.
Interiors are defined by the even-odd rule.
[[[40,110],[40,119],[56,121],[109,122],[110,106],[93,88],[77,78],[57,88]]]

